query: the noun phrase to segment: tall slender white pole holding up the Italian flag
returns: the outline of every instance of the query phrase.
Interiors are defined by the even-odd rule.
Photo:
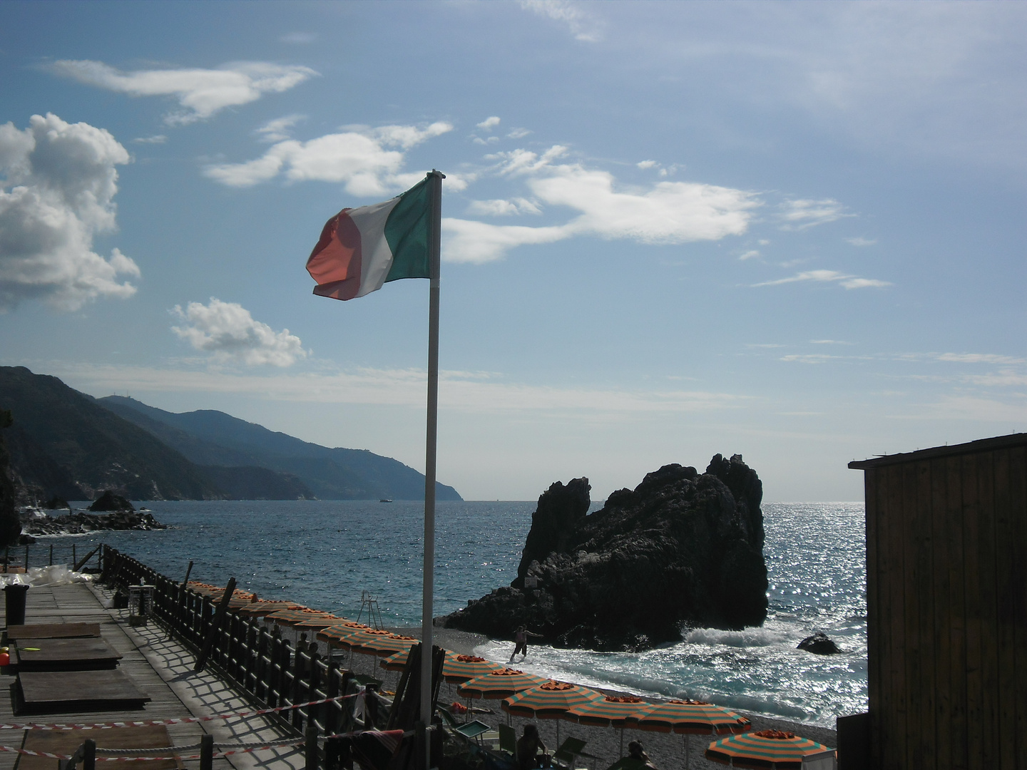
[[[432,616],[435,583],[435,445],[439,433],[439,267],[442,252],[443,180],[431,169],[431,230],[428,235],[428,425],[424,460],[424,576],[421,595],[421,722],[425,727],[424,768],[431,767],[427,728],[431,726]]]

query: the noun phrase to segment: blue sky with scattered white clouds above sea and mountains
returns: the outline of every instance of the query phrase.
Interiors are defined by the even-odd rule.
[[[0,4],[0,362],[423,469],[427,282],[325,221],[435,167],[439,477],[768,500],[1027,429],[1021,3]]]

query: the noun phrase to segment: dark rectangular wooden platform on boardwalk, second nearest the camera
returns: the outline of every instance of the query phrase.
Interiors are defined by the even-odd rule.
[[[118,669],[23,671],[14,684],[17,714],[142,708],[151,698]]]

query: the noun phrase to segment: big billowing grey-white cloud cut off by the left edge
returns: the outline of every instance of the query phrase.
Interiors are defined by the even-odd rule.
[[[128,152],[103,128],[33,115],[0,125],[0,310],[42,299],[76,310],[98,297],[131,297],[139,267],[117,248],[92,251],[115,229],[115,166]]]

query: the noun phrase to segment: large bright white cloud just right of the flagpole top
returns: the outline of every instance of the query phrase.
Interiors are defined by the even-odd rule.
[[[548,227],[490,225],[447,219],[444,256],[453,262],[490,262],[519,245],[550,243],[577,235],[629,238],[641,243],[677,244],[718,240],[746,231],[752,193],[691,182],[659,182],[645,189],[621,188],[613,175],[578,163],[555,163],[567,154],[560,145],[538,155],[514,150],[490,156],[502,176],[524,178],[531,201],[577,211]],[[509,205],[507,205],[509,203]],[[509,201],[482,202],[482,214],[511,214]],[[520,211],[520,208],[518,209]]]

